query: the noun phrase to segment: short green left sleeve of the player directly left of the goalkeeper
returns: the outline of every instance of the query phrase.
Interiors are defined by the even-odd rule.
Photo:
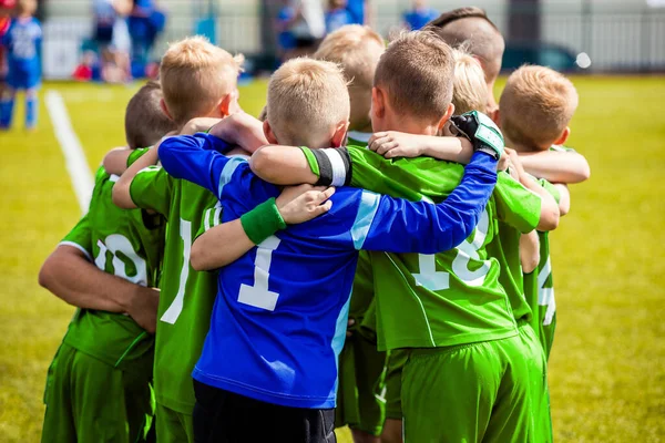
[[[132,202],[142,209],[153,209],[168,218],[175,178],[161,166],[141,169],[130,185]]]

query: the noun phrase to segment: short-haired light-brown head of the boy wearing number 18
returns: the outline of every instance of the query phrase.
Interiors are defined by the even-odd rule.
[[[439,119],[452,100],[452,50],[431,32],[402,32],[379,60],[375,86],[399,113]]]

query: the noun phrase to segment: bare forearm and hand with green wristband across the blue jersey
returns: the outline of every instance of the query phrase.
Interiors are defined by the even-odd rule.
[[[335,188],[310,185],[286,188],[275,202],[258,205],[233,222],[215,226],[194,241],[190,260],[196,270],[226,266],[287,225],[299,224],[327,213]],[[275,210],[277,209],[277,212]]]

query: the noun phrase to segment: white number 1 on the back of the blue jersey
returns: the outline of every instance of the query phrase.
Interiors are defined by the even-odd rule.
[[[241,285],[238,301],[255,308],[274,311],[279,293],[268,290],[270,278],[270,262],[273,251],[279,246],[279,238],[270,236],[262,241],[256,249],[254,260],[254,286]]]

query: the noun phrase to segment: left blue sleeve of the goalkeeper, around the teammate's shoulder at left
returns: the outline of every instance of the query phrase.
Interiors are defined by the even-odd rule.
[[[164,140],[160,144],[158,155],[162,167],[168,174],[204,187],[219,197],[219,177],[225,167],[241,161],[219,153],[227,148],[226,142],[213,135],[178,135]]]

